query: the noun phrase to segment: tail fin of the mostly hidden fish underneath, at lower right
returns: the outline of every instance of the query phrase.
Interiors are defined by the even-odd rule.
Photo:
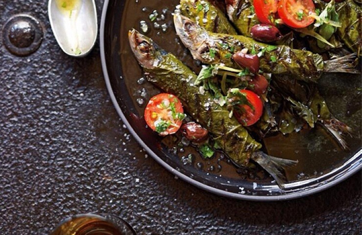
[[[331,118],[329,120],[322,121],[323,127],[327,129],[329,133],[338,141],[339,145],[348,150],[348,145],[346,141],[343,139],[343,135],[352,136],[352,128],[344,124],[343,122],[339,121],[336,118]]]

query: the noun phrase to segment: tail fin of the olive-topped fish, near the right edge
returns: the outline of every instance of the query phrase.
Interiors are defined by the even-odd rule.
[[[345,72],[345,73],[360,73],[354,69],[357,60],[357,53],[351,53],[336,59],[324,61],[324,72]]]

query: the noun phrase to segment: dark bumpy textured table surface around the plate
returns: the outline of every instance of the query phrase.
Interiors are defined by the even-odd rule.
[[[0,0],[1,27],[18,13],[41,21],[45,36],[27,57],[0,40],[0,234],[46,235],[65,217],[94,211],[120,215],[141,235],[361,234],[361,172],[272,203],[228,199],[176,179],[118,118],[98,41],[88,57],[70,58],[51,32],[46,1]]]

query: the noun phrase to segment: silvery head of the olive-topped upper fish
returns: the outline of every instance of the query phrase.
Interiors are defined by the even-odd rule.
[[[180,14],[174,15],[174,24],[177,35],[179,35],[183,45],[192,51],[197,51],[202,47],[208,34],[200,25]]]

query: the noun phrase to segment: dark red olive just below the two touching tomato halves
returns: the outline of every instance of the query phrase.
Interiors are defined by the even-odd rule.
[[[255,24],[250,34],[253,39],[265,43],[275,42],[282,36],[279,29],[271,24]]]

